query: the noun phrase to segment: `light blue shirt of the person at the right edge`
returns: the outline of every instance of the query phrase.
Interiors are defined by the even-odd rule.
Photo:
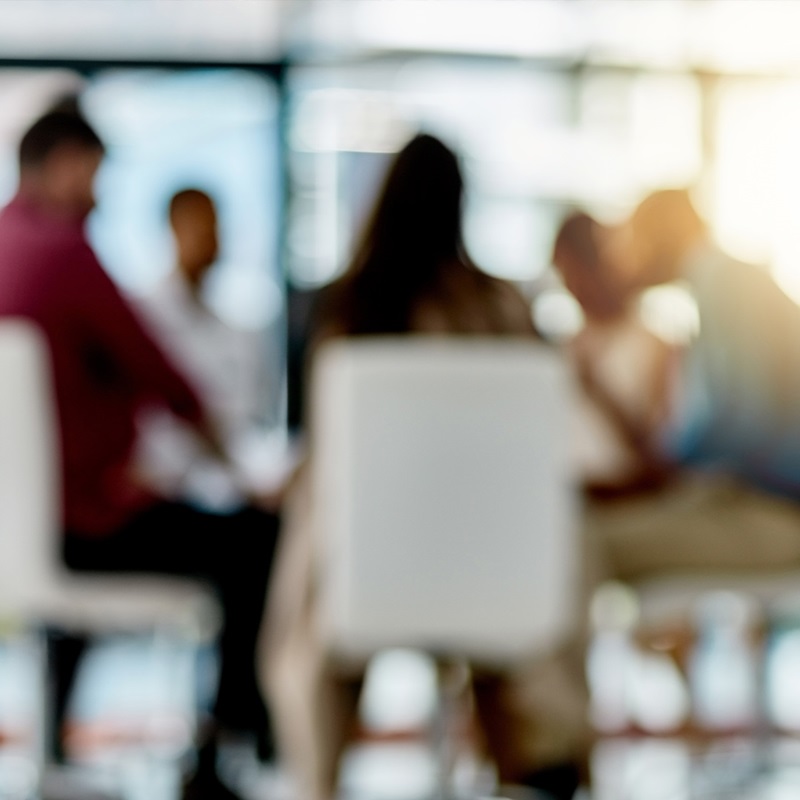
[[[700,329],[671,455],[800,497],[800,306],[768,272],[706,245],[685,263]]]

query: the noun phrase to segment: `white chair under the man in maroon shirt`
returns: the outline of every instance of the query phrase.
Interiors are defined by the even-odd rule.
[[[0,321],[0,618],[30,629],[152,631],[210,640],[220,611],[199,582],[84,576],[61,563],[55,426],[41,334],[23,320]],[[43,661],[43,687],[44,669]],[[45,691],[42,699],[47,699]],[[41,767],[49,740],[48,708],[42,709],[40,722]]]

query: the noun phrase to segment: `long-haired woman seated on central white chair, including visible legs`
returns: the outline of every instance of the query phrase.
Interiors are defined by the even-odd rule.
[[[462,193],[458,160],[442,142],[419,135],[403,148],[348,269],[322,293],[312,360],[316,349],[335,337],[535,336],[527,301],[513,285],[483,273],[467,254]],[[298,780],[300,796],[331,800],[363,675],[337,671],[315,632],[314,498],[309,492],[301,470],[287,499],[263,640],[263,679],[272,698],[278,747]],[[546,698],[536,703],[542,693],[531,702],[515,694],[514,676],[488,673],[474,676],[473,689],[500,781],[571,797],[579,779],[577,745],[563,717],[537,716],[547,704]]]

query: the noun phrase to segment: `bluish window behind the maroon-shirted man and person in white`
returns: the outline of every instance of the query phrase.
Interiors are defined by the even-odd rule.
[[[0,195],[16,184],[15,149],[25,127],[65,92],[81,90],[86,115],[107,145],[88,231],[101,261],[127,292],[147,292],[173,266],[167,205],[184,187],[207,191],[220,221],[220,258],[209,305],[268,343],[277,424],[285,394],[284,291],[279,265],[278,97],[271,80],[245,70],[68,70],[0,73]]]

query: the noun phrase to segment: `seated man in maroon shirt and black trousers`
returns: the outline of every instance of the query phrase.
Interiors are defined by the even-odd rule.
[[[45,114],[20,142],[19,190],[0,212],[0,317],[32,320],[50,348],[64,558],[74,570],[211,582],[225,614],[213,729],[255,734],[264,755],[268,722],[254,653],[277,516],[250,506],[209,514],[167,502],[137,481],[135,421],[148,405],[187,420],[212,453],[225,456],[197,393],[143,330],[86,241],[102,156],[102,142],[76,109]],[[62,672],[71,683],[74,669]],[[69,687],[63,688],[59,713]],[[193,798],[232,796],[213,774],[195,779],[191,792]]]

